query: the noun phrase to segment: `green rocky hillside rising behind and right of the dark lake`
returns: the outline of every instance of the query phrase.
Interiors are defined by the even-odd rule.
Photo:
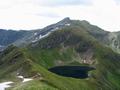
[[[94,66],[96,70],[89,84],[94,83],[105,90],[119,88],[120,55],[102,46],[80,27],[67,27],[54,32],[39,43],[32,44],[31,51],[32,55],[35,54],[36,62],[46,68],[81,64]],[[39,61],[36,57],[39,57]]]

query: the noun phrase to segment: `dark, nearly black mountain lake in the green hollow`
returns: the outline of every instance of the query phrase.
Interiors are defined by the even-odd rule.
[[[49,71],[65,77],[84,79],[88,77],[88,72],[95,68],[89,66],[57,66]]]

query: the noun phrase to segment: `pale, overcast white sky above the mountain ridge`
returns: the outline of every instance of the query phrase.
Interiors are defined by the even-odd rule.
[[[65,17],[120,31],[120,0],[0,0],[1,29],[40,29]]]

